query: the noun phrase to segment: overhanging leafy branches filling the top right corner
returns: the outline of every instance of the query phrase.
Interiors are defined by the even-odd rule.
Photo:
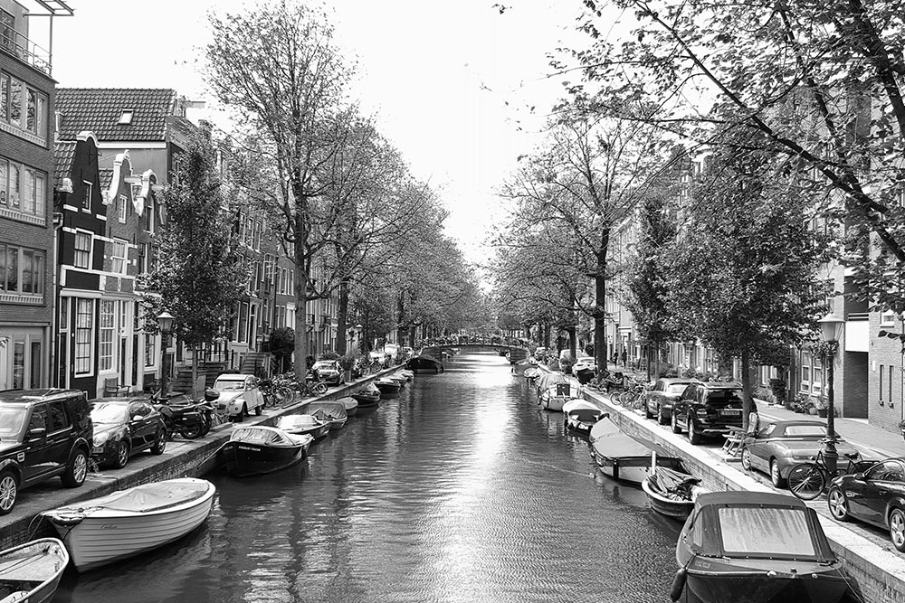
[[[710,146],[757,133],[814,205],[845,221],[857,295],[905,310],[900,3],[614,0],[637,19],[615,44],[601,35],[603,3],[582,4],[594,45],[573,53],[585,81],[570,90],[605,112],[644,99],[658,107],[645,120]]]

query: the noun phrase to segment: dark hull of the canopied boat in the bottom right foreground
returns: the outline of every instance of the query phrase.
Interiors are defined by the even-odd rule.
[[[837,603],[848,590],[848,583],[838,569],[825,564],[795,563],[797,573],[789,574],[786,562],[775,576],[764,568],[728,568],[729,564],[696,559],[685,581],[686,599],[700,603]],[[710,566],[694,569],[696,562]],[[716,566],[716,567],[715,567]]]

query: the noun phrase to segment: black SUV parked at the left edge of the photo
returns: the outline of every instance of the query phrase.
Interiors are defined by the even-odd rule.
[[[20,488],[55,476],[82,485],[92,431],[83,391],[0,391],[0,515],[13,510]]]

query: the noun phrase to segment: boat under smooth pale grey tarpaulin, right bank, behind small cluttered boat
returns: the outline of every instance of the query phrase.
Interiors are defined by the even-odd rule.
[[[634,438],[619,429],[612,419],[603,417],[591,428],[591,457],[605,476],[641,483],[651,473],[651,455],[657,453],[657,466],[683,471],[681,458],[643,438]]]

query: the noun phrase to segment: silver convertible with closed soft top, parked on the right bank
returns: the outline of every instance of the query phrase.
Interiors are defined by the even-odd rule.
[[[816,459],[826,438],[826,423],[817,420],[781,420],[767,423],[751,435],[741,449],[741,466],[746,471],[757,469],[770,476],[777,488],[786,487],[789,469],[797,463]],[[858,450],[838,438],[836,450],[840,458],[853,455]]]

